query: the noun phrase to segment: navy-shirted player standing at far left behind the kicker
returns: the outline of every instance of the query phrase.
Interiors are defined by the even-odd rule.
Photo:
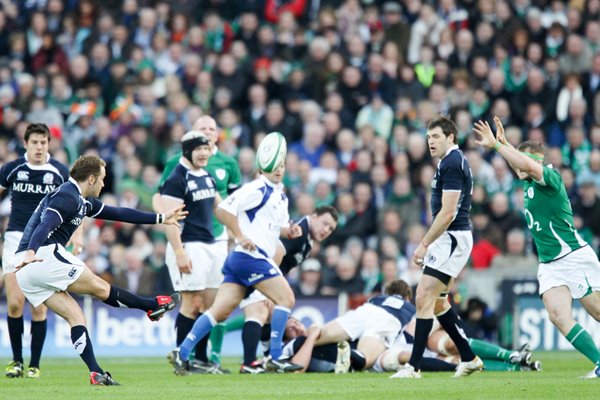
[[[23,308],[25,296],[15,278],[15,253],[27,221],[39,202],[69,179],[69,169],[50,158],[50,131],[45,124],[29,124],[25,129],[25,155],[6,163],[0,169],[0,195],[11,195],[11,211],[4,233],[2,274],[6,287],[8,337],[13,352],[6,366],[9,378],[40,376],[40,358],[46,338],[46,306],[31,307],[31,360],[23,366]],[[74,253],[81,251],[80,239]]]

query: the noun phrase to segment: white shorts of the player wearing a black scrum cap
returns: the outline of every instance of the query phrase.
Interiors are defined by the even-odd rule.
[[[221,268],[227,257],[227,242],[186,242],[183,248],[192,263],[192,272],[189,274],[181,273],[173,247],[167,245],[165,261],[173,288],[184,292],[218,288],[223,282]]]

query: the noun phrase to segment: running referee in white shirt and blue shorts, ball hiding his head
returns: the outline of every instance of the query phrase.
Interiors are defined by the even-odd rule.
[[[275,303],[268,367],[286,372],[298,369],[298,366],[280,360],[283,331],[295,299],[273,257],[280,236],[295,238],[302,232],[299,226],[289,224],[288,199],[281,184],[285,172],[285,139],[280,133],[269,135],[258,149],[259,154],[273,154],[269,166],[263,165],[258,179],[242,186],[216,210],[217,218],[230,229],[237,246],[227,256],[223,266],[225,278],[213,305],[196,321],[180,348],[172,353],[178,375],[188,374],[187,359],[193,346],[217,322],[231,314],[245,297],[248,287],[260,290]]]

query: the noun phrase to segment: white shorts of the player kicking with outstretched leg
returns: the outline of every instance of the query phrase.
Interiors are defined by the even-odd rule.
[[[27,300],[37,307],[56,292],[65,291],[86,268],[83,261],[58,244],[42,246],[36,255],[43,261],[28,264],[15,274]],[[18,262],[25,252],[16,255]]]

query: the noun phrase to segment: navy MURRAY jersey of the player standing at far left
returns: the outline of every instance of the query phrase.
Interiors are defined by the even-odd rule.
[[[44,165],[33,165],[19,157],[0,169],[0,187],[11,193],[11,212],[6,231],[23,232],[37,205],[69,179],[69,169],[48,157]]]

